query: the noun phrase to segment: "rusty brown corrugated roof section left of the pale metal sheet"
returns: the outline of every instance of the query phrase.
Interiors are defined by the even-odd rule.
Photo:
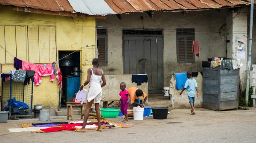
[[[74,11],[67,0],[0,0],[0,5],[29,7],[46,11]]]

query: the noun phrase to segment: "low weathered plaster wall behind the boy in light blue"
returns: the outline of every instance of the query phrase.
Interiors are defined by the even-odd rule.
[[[193,77],[198,84],[198,97],[195,96],[195,107],[203,107],[203,76],[201,73],[198,73],[197,77]],[[182,90],[176,90],[176,78],[175,75],[172,75],[170,80],[170,96],[172,99],[172,108],[191,108],[189,104],[189,98],[186,90],[180,95]]]

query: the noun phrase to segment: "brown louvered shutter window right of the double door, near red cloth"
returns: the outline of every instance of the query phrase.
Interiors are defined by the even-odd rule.
[[[195,39],[195,29],[177,29],[177,62],[195,62],[195,55],[192,52],[192,42]]]

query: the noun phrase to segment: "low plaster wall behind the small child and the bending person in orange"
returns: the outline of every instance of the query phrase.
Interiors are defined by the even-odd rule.
[[[137,86],[137,83],[131,82],[131,75],[106,75],[105,77],[107,84],[102,88],[102,99],[120,99],[121,96],[119,96],[119,92],[121,91],[121,82],[126,83],[126,89],[137,87],[148,95],[148,83],[142,83],[141,86]],[[113,103],[113,105],[116,104],[118,104],[118,102]]]

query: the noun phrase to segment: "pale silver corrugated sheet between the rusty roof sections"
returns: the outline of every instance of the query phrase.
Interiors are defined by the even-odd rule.
[[[76,12],[89,15],[116,14],[104,0],[68,0]]]

